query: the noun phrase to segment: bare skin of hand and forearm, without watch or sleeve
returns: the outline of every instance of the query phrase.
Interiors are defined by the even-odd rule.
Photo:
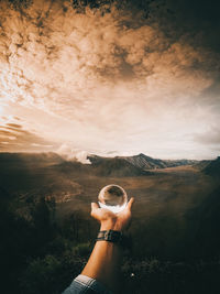
[[[124,231],[131,220],[131,207],[133,198],[130,199],[124,210],[113,214],[108,209],[99,208],[98,204],[91,204],[91,216],[100,222],[100,230]],[[116,291],[119,277],[120,261],[122,257],[121,247],[109,241],[97,241],[92,253],[81,274],[92,277]]]

